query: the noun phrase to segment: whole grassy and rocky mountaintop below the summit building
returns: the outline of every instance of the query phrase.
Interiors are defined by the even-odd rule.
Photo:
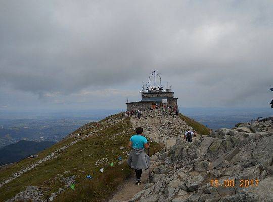
[[[126,164],[136,126],[144,128],[153,154],[153,180],[138,188]],[[188,128],[197,133],[192,143],[181,137]],[[162,108],[142,112],[140,121],[119,113],[82,126],[36,158],[1,168],[0,199],[272,201],[272,134],[272,118],[210,131]]]

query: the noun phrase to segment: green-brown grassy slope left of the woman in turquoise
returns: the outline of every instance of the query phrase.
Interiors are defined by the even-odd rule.
[[[99,127],[95,127],[94,123],[86,124],[73,134],[81,133],[85,135],[91,131],[98,130],[107,126],[110,119],[119,120],[120,115],[107,117],[99,122]],[[102,131],[88,138],[85,138],[73,146],[63,151],[57,158],[53,158],[42,163],[35,169],[23,174],[18,179],[1,187],[0,201],[6,200],[20,191],[23,191],[26,186],[40,186],[47,194],[58,191],[58,188],[65,184],[61,181],[64,177],[76,175],[76,189],[65,190],[60,197],[56,198],[59,201],[103,201],[113,193],[126,177],[130,176],[132,170],[127,165],[117,165],[117,157],[121,155],[126,158],[126,152],[129,149],[120,150],[120,147],[126,147],[130,136],[134,133],[131,129],[129,119],[124,119],[113,126],[108,126]],[[69,137],[65,140],[53,145],[49,149],[39,153],[39,156],[34,159],[24,159],[7,169],[0,172],[0,179],[6,179],[11,174],[19,171],[21,167],[27,167],[47,156],[52,151],[67,145],[74,141],[77,137]],[[159,145],[153,146],[155,153],[160,150]],[[108,158],[109,161],[102,165],[94,165],[95,162],[102,158]],[[109,163],[113,162],[114,167],[110,167]],[[100,173],[99,169],[104,168],[105,172]],[[64,171],[69,173],[64,174]],[[87,181],[86,176],[93,176],[92,180]],[[56,200],[55,199],[55,200]]]

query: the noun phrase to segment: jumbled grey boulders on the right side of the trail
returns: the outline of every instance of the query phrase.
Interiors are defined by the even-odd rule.
[[[273,201],[272,158],[272,117],[193,143],[178,136],[174,146],[151,156],[153,183],[128,201]]]

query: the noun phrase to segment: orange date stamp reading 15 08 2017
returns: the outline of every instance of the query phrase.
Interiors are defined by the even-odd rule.
[[[241,179],[239,180],[239,187],[253,187],[258,186],[258,179]],[[220,184],[219,180],[210,180],[210,185],[214,187],[218,187],[220,185],[224,187],[234,187],[235,180],[234,179],[226,179],[223,181],[223,184]]]

